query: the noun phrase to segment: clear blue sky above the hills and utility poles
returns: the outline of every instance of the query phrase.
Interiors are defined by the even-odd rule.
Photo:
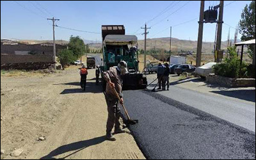
[[[233,27],[230,38],[234,38],[241,12],[250,2],[224,1],[228,5],[224,7],[222,40],[227,40],[230,28],[227,24]],[[219,1],[205,1],[205,9],[217,3]],[[156,17],[168,6],[169,10]],[[141,33],[140,27],[156,17],[147,24],[148,27],[153,25],[148,38],[169,36],[169,27],[173,26],[173,37],[197,40],[199,11],[200,1],[1,1],[1,38],[40,40],[42,36],[42,40],[52,40],[52,22],[46,20],[52,16],[60,19],[59,26],[98,33],[102,24],[124,24],[128,34]],[[183,22],[188,23],[175,27]],[[214,41],[215,28],[216,24],[204,24],[203,41]],[[56,28],[56,39],[68,40],[70,35],[101,40],[100,34]]]

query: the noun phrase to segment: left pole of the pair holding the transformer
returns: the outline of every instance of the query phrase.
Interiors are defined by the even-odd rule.
[[[197,48],[196,48],[196,67],[201,66],[201,56],[202,56],[202,41],[203,41],[203,29],[204,29],[204,1],[201,1],[200,6],[200,18],[198,27],[198,38],[197,38]]]

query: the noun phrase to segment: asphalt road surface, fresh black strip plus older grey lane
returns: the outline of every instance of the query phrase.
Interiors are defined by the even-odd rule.
[[[172,98],[168,96],[171,93],[175,95]],[[241,118],[239,115],[221,118],[228,115],[229,109],[234,116],[236,109],[232,110],[232,103],[227,99],[220,102],[223,108],[227,106],[227,111],[222,113],[225,109],[216,107],[218,100],[223,99],[212,95],[201,97],[197,92],[191,95],[191,90],[176,86],[166,92],[124,91],[131,118],[139,120],[130,127],[131,132],[148,159],[255,159],[255,108],[254,121],[250,122],[254,123],[253,132],[251,124],[239,125],[245,120],[236,120]],[[234,108],[241,105],[236,101],[233,104]],[[246,111],[241,115],[247,114]]]

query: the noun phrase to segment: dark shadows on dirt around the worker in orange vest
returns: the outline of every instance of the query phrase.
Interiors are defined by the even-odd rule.
[[[59,84],[55,84],[59,85]],[[81,88],[80,82],[72,82],[72,83],[63,83],[62,85],[72,85],[77,86],[79,88],[67,88],[61,92],[61,95],[70,94],[70,93],[102,93],[102,85],[100,83],[96,85],[95,82],[87,82],[85,91]]]

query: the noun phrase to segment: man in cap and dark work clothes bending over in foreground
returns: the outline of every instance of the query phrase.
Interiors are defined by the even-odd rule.
[[[113,89],[115,88],[116,92],[120,96],[120,103],[124,103],[122,95],[122,75],[127,72],[127,63],[125,61],[120,61],[120,63],[118,63],[118,67],[111,67],[108,71],[104,72],[104,79],[107,82],[105,98],[108,105],[106,138],[110,141],[116,140],[112,134],[114,124],[115,134],[125,132],[125,130],[120,127],[119,118],[121,116],[121,111],[118,106],[118,98],[116,97],[115,92],[113,92]]]

